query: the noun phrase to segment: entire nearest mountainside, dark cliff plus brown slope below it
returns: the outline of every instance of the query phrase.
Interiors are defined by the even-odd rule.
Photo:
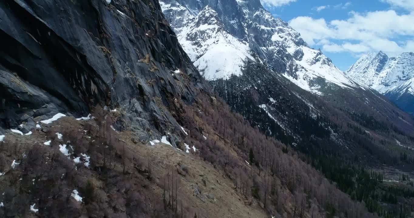
[[[1,217],[377,217],[212,97],[158,2],[0,20]]]

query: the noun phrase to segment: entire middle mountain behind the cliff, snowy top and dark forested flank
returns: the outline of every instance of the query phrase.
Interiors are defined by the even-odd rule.
[[[185,52],[233,111],[300,151],[304,161],[339,189],[369,202],[369,211],[385,217],[405,214],[395,210],[400,205],[409,208],[414,193],[399,203],[385,200],[379,196],[402,196],[390,192],[389,184],[369,182],[376,176],[360,173],[366,167],[412,173],[412,116],[369,84],[355,82],[320,50],[308,47],[299,33],[272,17],[259,1],[160,4]],[[236,49],[240,51],[234,55]],[[237,67],[229,71],[225,63]],[[410,188],[404,185],[402,189]],[[379,205],[385,204],[384,211]]]

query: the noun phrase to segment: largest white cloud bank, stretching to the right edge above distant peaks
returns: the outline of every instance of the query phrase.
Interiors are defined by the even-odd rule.
[[[404,0],[388,0],[400,1]],[[414,1],[412,3],[414,5]],[[341,7],[347,4],[341,5]],[[413,51],[414,12],[397,14],[394,10],[367,13],[350,12],[346,20],[296,17],[289,24],[301,33],[310,45],[318,45],[327,52],[360,54],[383,50],[389,55]],[[405,39],[406,41],[400,41]],[[340,43],[332,43],[332,40]]]

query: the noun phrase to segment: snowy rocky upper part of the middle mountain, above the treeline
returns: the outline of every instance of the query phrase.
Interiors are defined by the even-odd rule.
[[[308,47],[286,22],[274,18],[259,0],[161,0],[160,5],[183,49],[207,80],[240,75],[250,59],[316,94],[323,94],[323,87],[330,84],[359,86],[320,50]]]

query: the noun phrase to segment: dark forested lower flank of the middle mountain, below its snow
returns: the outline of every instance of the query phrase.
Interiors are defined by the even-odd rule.
[[[393,185],[369,177],[372,172],[383,177],[383,164],[413,167],[413,149],[395,145],[396,141],[400,143],[397,139],[407,145],[414,143],[412,132],[396,126],[400,125],[398,120],[395,124],[389,117],[373,116],[366,106],[349,104],[346,96],[332,100],[311,96],[300,88],[286,88],[289,82],[283,77],[250,61],[242,76],[210,83],[232,110],[241,113],[252,126],[258,126],[262,133],[300,152],[303,161],[352,199],[364,202],[370,212],[383,217],[411,216],[413,196],[401,191],[410,190],[411,181],[404,180],[389,188]],[[332,90],[331,95],[336,95]],[[349,105],[355,107],[351,109]],[[399,120],[412,119],[400,113],[386,114],[397,114]]]

